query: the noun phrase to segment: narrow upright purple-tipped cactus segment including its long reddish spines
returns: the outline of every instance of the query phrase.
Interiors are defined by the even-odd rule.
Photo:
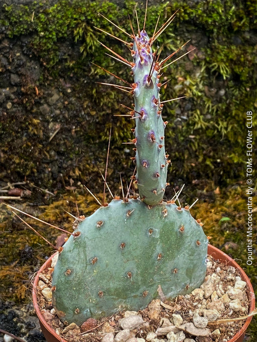
[[[152,52],[152,44],[172,22],[172,20],[175,18],[176,12],[161,26],[159,30],[157,30],[158,22],[160,19],[159,16],[153,36],[151,38],[148,37],[145,31],[146,12],[147,3],[142,31],[140,31],[138,16],[136,13],[138,23],[137,35],[134,32],[131,21],[130,25],[132,29],[132,34],[129,34],[125,30],[120,28],[118,25],[116,25],[114,22],[102,16],[107,21],[112,23],[120,31],[125,33],[128,37],[133,39],[133,43],[128,43],[108,32],[103,31],[102,29],[97,29],[99,29],[101,32],[104,32],[112,36],[113,38],[116,38],[118,41],[126,44],[126,46],[129,47],[131,51],[131,55],[133,57],[134,62],[129,62],[127,59],[123,58],[115,51],[101,43],[105,48],[108,49],[108,51],[110,51],[114,55],[109,56],[131,67],[132,74],[134,76],[134,83],[131,84],[121,79],[119,76],[111,73],[110,71],[105,70],[102,67],[100,68],[108,72],[112,76],[116,77],[119,81],[122,81],[126,84],[116,85],[104,83],[105,85],[112,85],[116,88],[119,88],[122,91],[131,93],[134,96],[135,104],[132,105],[133,108],[121,105],[129,110],[128,116],[130,116],[131,119],[135,119],[136,121],[136,128],[132,128],[132,132],[135,137],[131,139],[129,142],[130,144],[135,145],[135,148],[133,150],[136,151],[136,156],[131,157],[131,159],[136,162],[137,169],[137,174],[133,174],[132,180],[135,184],[137,184],[140,199],[148,205],[156,205],[162,202],[165,188],[167,185],[169,185],[169,183],[166,182],[166,175],[167,166],[168,164],[170,164],[170,160],[168,159],[168,154],[166,154],[164,147],[164,128],[166,127],[168,122],[164,122],[162,120],[162,110],[165,102],[183,98],[180,97],[177,99],[171,99],[162,102],[160,101],[159,91],[162,86],[160,82],[160,72],[164,67],[184,57],[190,51],[185,53],[183,56],[177,58],[176,60],[173,60],[169,64],[164,65],[167,61],[170,60],[172,56],[174,56],[175,53],[177,53],[181,48],[183,48],[183,46],[185,45],[183,44],[175,52],[171,53],[164,60],[159,62],[160,53],[158,54],[157,51]],[[142,70],[143,72],[140,72]],[[143,92],[141,92],[142,87],[144,88]],[[152,117],[152,119],[150,120],[150,125],[149,117]],[[148,130],[147,133],[145,133],[146,129]],[[155,159],[158,160],[155,161]]]

